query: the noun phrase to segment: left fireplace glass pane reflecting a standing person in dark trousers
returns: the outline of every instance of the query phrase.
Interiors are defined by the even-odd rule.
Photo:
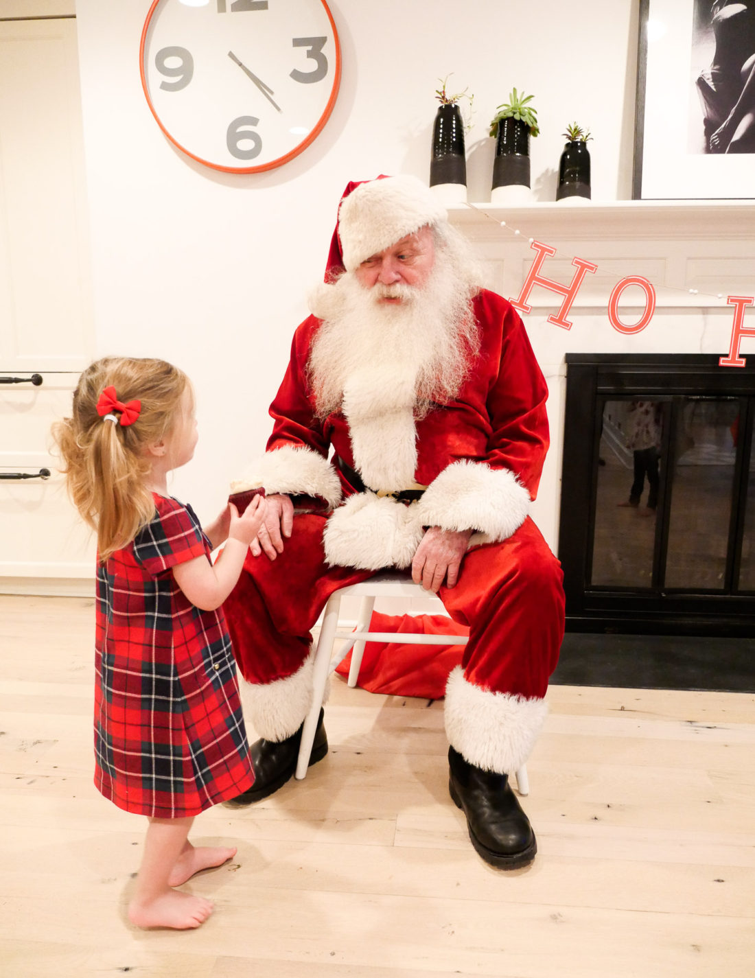
[[[593,539],[594,585],[649,588],[661,477],[663,405],[606,401]]]

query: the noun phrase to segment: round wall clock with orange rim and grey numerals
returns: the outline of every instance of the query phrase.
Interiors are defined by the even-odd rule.
[[[325,0],[155,0],[142,86],[187,156],[230,173],[281,166],[333,111],[340,45]]]

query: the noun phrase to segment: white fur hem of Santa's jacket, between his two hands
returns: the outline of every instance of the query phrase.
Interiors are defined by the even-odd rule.
[[[332,567],[408,567],[422,541],[418,505],[364,492],[349,496],[328,519],[323,536]]]

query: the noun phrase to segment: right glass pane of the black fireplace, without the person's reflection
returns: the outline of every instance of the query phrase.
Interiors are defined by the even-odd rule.
[[[672,446],[666,587],[725,587],[739,401],[683,399]]]

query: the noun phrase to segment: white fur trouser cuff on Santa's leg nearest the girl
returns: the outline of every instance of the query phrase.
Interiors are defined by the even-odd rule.
[[[286,679],[272,683],[245,683],[244,709],[259,736],[266,740],[285,740],[301,726],[312,705],[312,666],[310,654],[300,669]]]

